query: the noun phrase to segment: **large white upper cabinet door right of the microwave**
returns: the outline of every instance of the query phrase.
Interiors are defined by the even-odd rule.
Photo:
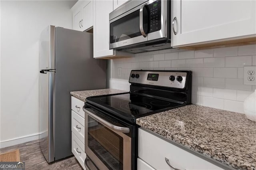
[[[255,0],[175,0],[172,9],[174,47],[256,34]]]

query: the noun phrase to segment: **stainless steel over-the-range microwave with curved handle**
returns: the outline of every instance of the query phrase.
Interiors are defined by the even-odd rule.
[[[129,0],[109,20],[110,49],[140,53],[171,48],[171,0]]]

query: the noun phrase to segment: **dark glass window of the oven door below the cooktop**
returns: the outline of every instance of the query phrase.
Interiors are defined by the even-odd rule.
[[[88,147],[108,169],[123,169],[123,138],[88,116]]]

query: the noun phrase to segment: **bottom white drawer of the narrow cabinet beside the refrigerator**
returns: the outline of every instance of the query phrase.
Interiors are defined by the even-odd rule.
[[[84,144],[78,139],[78,137],[72,132],[72,153],[80,163],[80,165],[86,169],[84,166],[84,160],[86,158],[86,153],[84,152]]]

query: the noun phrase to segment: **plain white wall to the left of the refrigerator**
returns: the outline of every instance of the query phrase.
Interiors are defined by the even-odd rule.
[[[48,25],[72,28],[74,1],[1,1],[0,147],[38,134],[39,36]]]

